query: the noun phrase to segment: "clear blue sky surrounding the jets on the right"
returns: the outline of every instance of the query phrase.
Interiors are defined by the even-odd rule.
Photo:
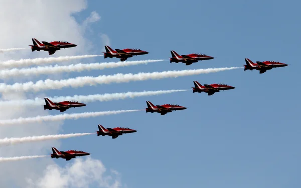
[[[127,187],[298,187],[300,163],[300,65],[298,62],[300,3],[297,1],[88,1],[75,14],[79,22],[91,11],[101,20],[88,38],[101,53],[101,33],[112,48],[140,48],[150,53],[129,60],[169,59],[179,54],[205,53],[213,60],[185,64],[169,61],[117,69],[72,73],[69,77],[242,67],[244,58],[289,64],[264,74],[243,69],[173,79],[97,85],[48,91],[48,96],[127,91],[191,89],[225,83],[234,90],[212,96],[192,91],[89,103],[66,113],[143,109],[177,103],[187,110],[161,116],[133,112],[66,120],[62,133],[93,132],[97,124],[126,126],[136,133],[96,135],[61,140],[61,150],[79,149],[122,175]],[[72,41],[69,41],[72,42]],[[99,57],[96,62],[108,62]],[[109,59],[112,60],[112,59]],[[113,59],[118,61],[118,59]],[[126,63],[126,62],[125,62]],[[59,114],[52,111],[51,114]],[[68,161],[56,160],[65,165]]]

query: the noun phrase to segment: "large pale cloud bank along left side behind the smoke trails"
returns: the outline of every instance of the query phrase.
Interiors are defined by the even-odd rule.
[[[84,37],[82,24],[77,23],[72,16],[86,9],[86,7],[87,2],[85,0],[3,1],[0,6],[0,12],[5,16],[0,17],[0,35],[5,37],[0,38],[0,49],[28,48],[28,50],[2,53],[0,62],[10,59],[19,60],[22,58],[49,57],[48,53],[44,51],[31,52],[28,46],[32,44],[31,38],[37,38],[41,41],[64,40],[78,44],[75,48],[59,50],[51,57],[89,54],[90,41]],[[96,15],[94,15],[91,21],[95,21],[96,18]],[[57,75],[56,78],[58,79],[59,76],[60,75]],[[22,79],[12,79],[14,79],[13,81],[22,82]],[[27,95],[21,92],[2,93],[1,99],[20,100],[26,99]],[[34,94],[34,96],[37,95],[45,96],[45,94],[41,93]],[[48,111],[44,110],[42,106],[28,108],[0,106],[0,119],[37,115],[48,115]],[[45,122],[14,128],[3,126],[0,128],[0,138],[57,134],[62,124],[63,122]],[[60,147],[60,141],[55,140],[4,146],[0,147],[0,156],[12,157],[20,156],[20,154],[43,155],[50,153],[52,146]],[[46,157],[2,163],[0,164],[0,168],[5,170],[0,171],[0,187],[25,187],[28,183],[26,178],[41,179],[40,174],[45,171],[45,167],[54,162],[55,161],[51,160],[51,158]],[[86,178],[86,176],[84,177]],[[43,187],[45,187],[45,185]]]

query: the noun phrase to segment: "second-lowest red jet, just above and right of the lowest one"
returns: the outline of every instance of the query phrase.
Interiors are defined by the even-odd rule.
[[[98,125],[98,129],[99,130],[95,130],[97,136],[109,135],[112,136],[112,139],[115,139],[122,134],[137,132],[136,130],[127,127],[104,128],[102,125]]]

